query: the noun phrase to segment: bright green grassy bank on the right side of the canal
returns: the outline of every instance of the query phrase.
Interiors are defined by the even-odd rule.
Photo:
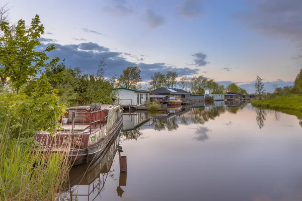
[[[252,100],[251,103],[258,108],[302,112],[302,94],[280,95],[270,99]]]

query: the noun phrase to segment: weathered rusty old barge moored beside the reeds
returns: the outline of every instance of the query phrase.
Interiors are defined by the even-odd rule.
[[[40,132],[35,138],[44,145],[42,152],[62,152],[68,155],[72,165],[96,159],[122,128],[120,106],[92,104],[66,111],[61,128],[53,137],[48,132]]]

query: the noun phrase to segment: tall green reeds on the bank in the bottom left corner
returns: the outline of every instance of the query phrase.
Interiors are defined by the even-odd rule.
[[[0,128],[0,200],[56,199],[68,178],[71,140],[53,153],[34,138],[12,138],[9,121]]]

